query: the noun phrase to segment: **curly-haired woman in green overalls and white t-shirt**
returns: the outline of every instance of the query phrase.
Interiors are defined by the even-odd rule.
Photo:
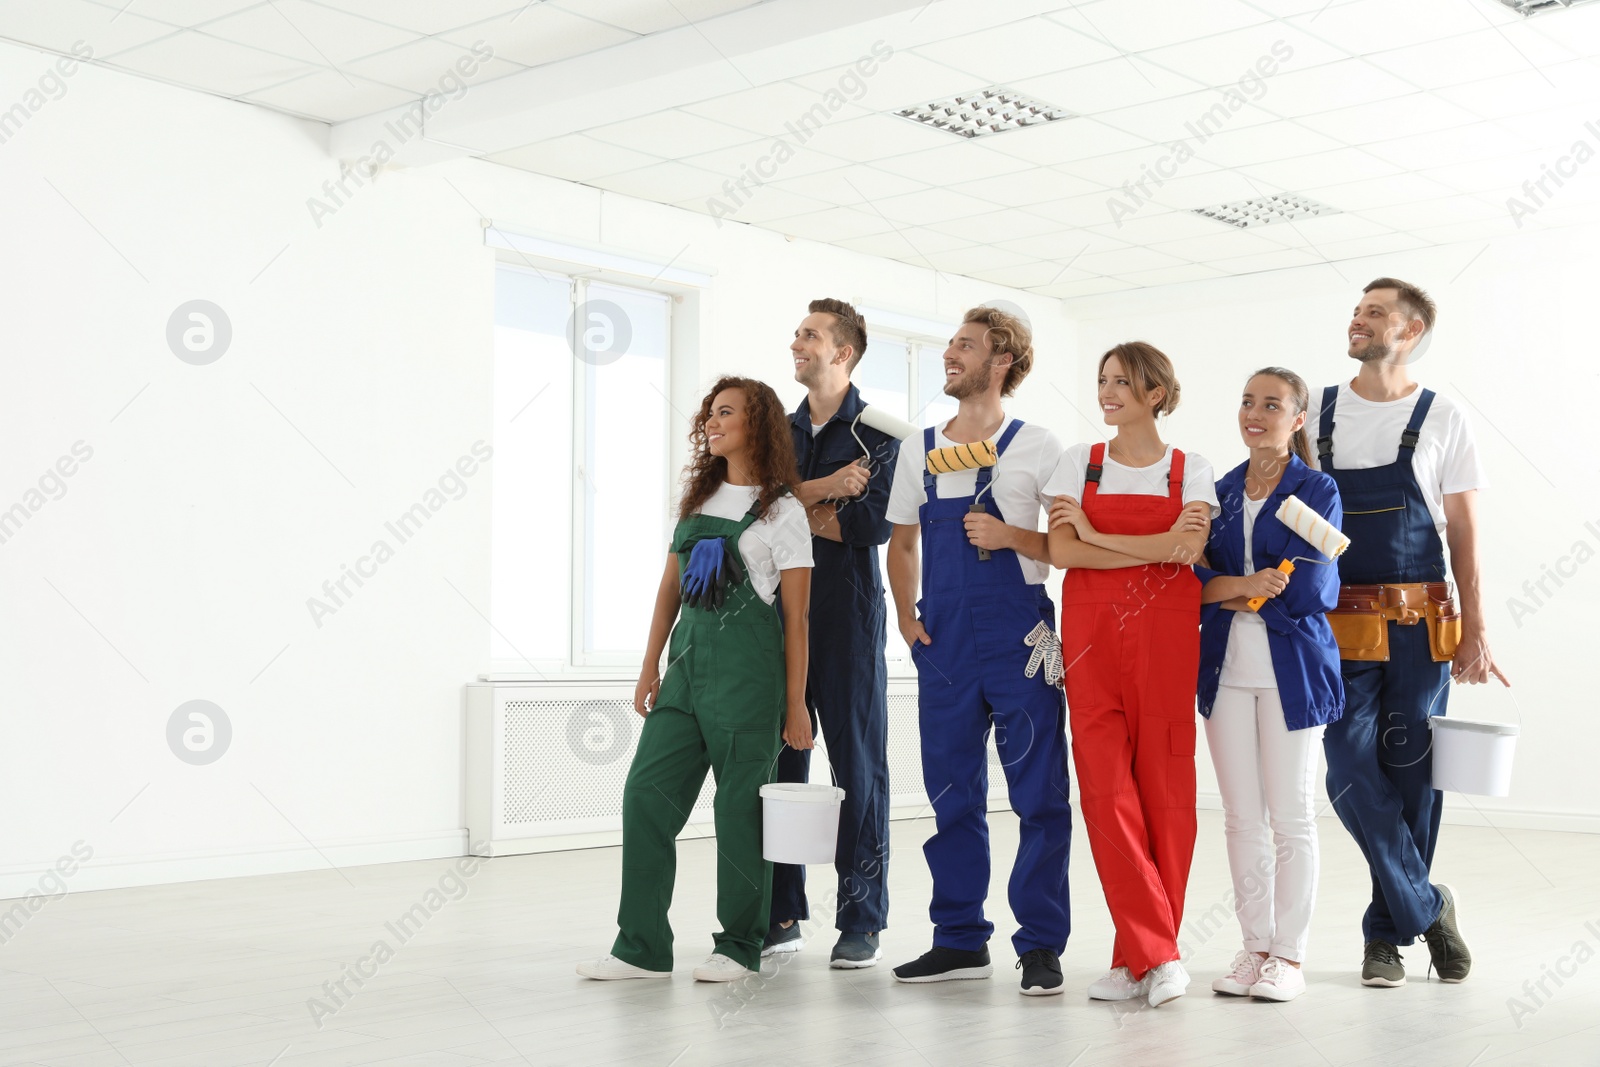
[[[622,790],[619,929],[611,955],[578,966],[584,977],[672,976],[675,838],[707,768],[717,776],[722,933],[694,979],[731,982],[760,968],[773,865],[762,859],[758,790],[782,742],[811,747],[811,528],[789,493],[798,482],[790,434],[778,395],[746,378],[718,381],[694,416],[694,456],[634,691],[645,728]]]

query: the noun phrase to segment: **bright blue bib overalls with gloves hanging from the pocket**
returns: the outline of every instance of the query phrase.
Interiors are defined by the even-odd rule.
[[[1021,429],[1013,421],[997,451]],[[925,434],[926,450],[934,432]],[[933,872],[936,947],[974,952],[994,933],[984,918],[989,894],[987,734],[1005,768],[1011,809],[1022,821],[1008,897],[1021,929],[1018,955],[1050,949],[1056,955],[1072,931],[1067,854],[1072,806],[1067,803],[1066,705],[1040,670],[1024,672],[1024,638],[1043,622],[1054,630],[1056,608],[1042,584],[1022,576],[1016,552],[995,549],[989,560],[966,539],[962,522],[973,502],[997,514],[990,469],[978,470],[973,496],[939,498],[934,475],[923,472],[922,600],[917,611],[933,638],[912,645],[917,661],[917,709],[922,777],[933,803],[934,835],[923,845]]]

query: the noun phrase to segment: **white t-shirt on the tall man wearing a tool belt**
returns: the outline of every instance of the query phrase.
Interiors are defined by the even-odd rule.
[[[1411,410],[1422,397],[1422,386],[1410,397],[1389,402],[1362,400],[1349,382],[1339,386],[1339,400],[1333,410],[1333,466],[1336,469],[1365,469],[1392,464],[1400,454],[1400,435],[1411,421]],[[1310,411],[1306,432],[1310,435],[1312,453],[1322,424],[1322,390],[1310,394]],[[1478,461],[1478,446],[1472,438],[1467,416],[1445,394],[1434,395],[1434,406],[1422,419],[1422,432],[1411,454],[1411,470],[1427,501],[1427,514],[1434,517],[1438,536],[1445,536],[1445,494],[1486,490],[1488,475]]]

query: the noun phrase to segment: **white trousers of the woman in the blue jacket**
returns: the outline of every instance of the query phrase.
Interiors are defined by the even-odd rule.
[[[1325,729],[1290,729],[1275,688],[1229,685],[1218,688],[1205,725],[1245,949],[1296,963],[1306,960],[1317,902],[1315,777]]]

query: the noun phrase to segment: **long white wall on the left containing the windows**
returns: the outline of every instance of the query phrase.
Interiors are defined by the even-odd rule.
[[[0,106],[53,62],[0,46]],[[952,322],[1008,296],[1050,354],[1018,413],[1080,378],[1056,301],[490,163],[382,174],[317,226],[325,134],[82,67],[0,144],[0,510],[42,502],[0,542],[0,897],[75,841],[72,888],[462,851],[488,472],[320,627],[306,601],[493,442],[485,218],[714,267],[707,381],[798,400],[787,341],[821,294]],[[234,328],[206,366],[165,338],[190,299]],[[77,442],[64,493],[29,498]],[[166,742],[192,699],[234,729],[208,766]]]

